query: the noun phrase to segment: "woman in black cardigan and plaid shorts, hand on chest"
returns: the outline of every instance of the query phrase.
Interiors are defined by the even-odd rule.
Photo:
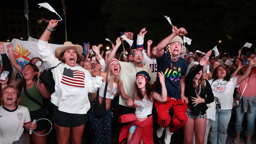
[[[199,61],[194,61],[188,65],[185,77],[185,96],[188,97],[188,105],[186,114],[188,122],[183,127],[184,142],[183,144],[191,144],[193,141],[193,132],[195,131],[195,141],[197,144],[204,144],[204,135],[206,127],[206,104],[214,101],[211,85],[204,80],[204,65],[207,64],[211,55],[209,51]]]

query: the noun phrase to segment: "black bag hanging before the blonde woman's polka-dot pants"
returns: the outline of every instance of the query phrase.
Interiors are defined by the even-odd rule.
[[[94,115],[96,117],[102,117],[106,114],[106,91],[108,87],[108,82],[106,81],[105,90],[104,90],[104,97],[102,103],[99,102],[99,91],[100,88],[97,90],[96,102],[94,104]]]

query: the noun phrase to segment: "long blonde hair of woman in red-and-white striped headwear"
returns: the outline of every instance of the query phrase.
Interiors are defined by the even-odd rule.
[[[120,93],[120,86],[123,84],[123,81],[122,81],[122,79],[121,79],[121,66],[120,66],[119,63],[118,63],[118,65],[119,65],[119,67],[120,67],[120,71],[119,71],[118,75],[117,75],[117,76],[114,76],[114,75],[112,74],[112,72],[111,72],[111,68],[108,68],[108,77],[107,77],[108,86],[109,86],[109,88],[110,88],[109,91],[112,91],[112,90],[114,89],[113,83],[116,83],[116,84],[117,84],[117,89],[116,89],[117,92],[116,92],[115,96]],[[115,82],[115,81],[116,81],[116,82]]]

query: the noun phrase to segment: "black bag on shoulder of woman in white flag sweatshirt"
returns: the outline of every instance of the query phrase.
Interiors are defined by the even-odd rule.
[[[61,62],[59,63],[61,64]],[[59,65],[58,64],[58,65]],[[58,66],[57,65],[57,66]],[[41,75],[39,76],[39,80],[41,81],[41,83],[44,83],[44,85],[46,86],[46,88],[51,92],[51,93],[54,93],[55,92],[55,82],[54,82],[54,79],[52,77],[52,69],[53,68],[56,68],[57,66],[55,67],[52,67],[52,68],[47,68],[45,69]]]

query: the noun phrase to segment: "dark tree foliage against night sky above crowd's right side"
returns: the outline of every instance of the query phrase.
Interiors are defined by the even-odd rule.
[[[103,14],[109,16],[105,28],[112,40],[120,36],[120,32],[131,31],[136,44],[137,34],[146,27],[144,45],[149,39],[157,45],[172,32],[172,26],[164,18],[166,15],[173,25],[188,31],[186,36],[192,39],[191,45],[186,44],[189,51],[206,52],[217,45],[219,51],[229,51],[235,56],[245,42],[253,45],[251,49],[243,48],[243,52],[254,51],[255,0],[107,0],[101,8]],[[222,42],[218,43],[219,40]]]

